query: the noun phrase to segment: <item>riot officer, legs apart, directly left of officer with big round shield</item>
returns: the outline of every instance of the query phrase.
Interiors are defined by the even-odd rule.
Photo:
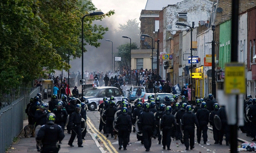
[[[199,109],[196,113],[196,118],[199,123],[199,127],[196,129],[197,135],[197,142],[200,143],[201,141],[201,134],[203,134],[204,144],[207,142],[207,130],[208,130],[208,123],[209,123],[209,110],[207,110],[206,102],[201,103],[201,109]]]

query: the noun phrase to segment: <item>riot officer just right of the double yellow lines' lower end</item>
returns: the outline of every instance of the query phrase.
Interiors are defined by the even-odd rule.
[[[132,131],[132,121],[131,117],[127,115],[128,109],[126,107],[123,107],[121,112],[122,114],[118,116],[118,119],[115,122],[118,126],[118,149],[121,150],[123,145],[124,150],[127,150],[126,146],[129,142],[129,133]]]

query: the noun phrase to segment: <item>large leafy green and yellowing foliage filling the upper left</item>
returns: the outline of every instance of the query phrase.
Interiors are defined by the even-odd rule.
[[[91,0],[2,0],[0,10],[0,91],[8,92],[55,69],[69,69],[68,50],[81,57],[81,18],[97,8]],[[108,28],[92,22],[113,14],[84,19],[84,45],[100,46]]]

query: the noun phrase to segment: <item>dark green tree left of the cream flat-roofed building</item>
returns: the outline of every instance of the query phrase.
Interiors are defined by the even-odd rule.
[[[116,57],[121,57],[121,61],[117,63],[122,66],[130,66],[130,43],[119,45],[116,49],[118,52],[115,54]],[[134,42],[131,44],[131,49],[140,49]]]

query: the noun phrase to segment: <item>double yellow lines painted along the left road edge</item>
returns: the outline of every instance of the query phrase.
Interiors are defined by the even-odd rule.
[[[87,118],[88,118],[88,117],[87,117]],[[87,120],[87,125],[89,126],[89,128],[92,130],[93,133],[96,133],[96,134],[98,133],[98,134],[97,134],[98,137],[100,138],[100,140],[103,142],[104,146],[108,149],[108,151],[109,151],[110,153],[113,153],[113,152],[118,153],[118,151],[116,151],[116,149],[113,147],[113,145],[111,144],[111,142],[110,142],[102,133],[100,133],[100,132],[94,127],[94,125],[92,124],[92,122],[91,122],[91,120],[90,120],[89,118],[88,118],[88,120]],[[104,139],[104,140],[103,140],[103,139]],[[106,143],[105,141],[108,142],[108,145],[107,145],[107,143]],[[112,151],[109,147],[111,147],[113,151]]]

